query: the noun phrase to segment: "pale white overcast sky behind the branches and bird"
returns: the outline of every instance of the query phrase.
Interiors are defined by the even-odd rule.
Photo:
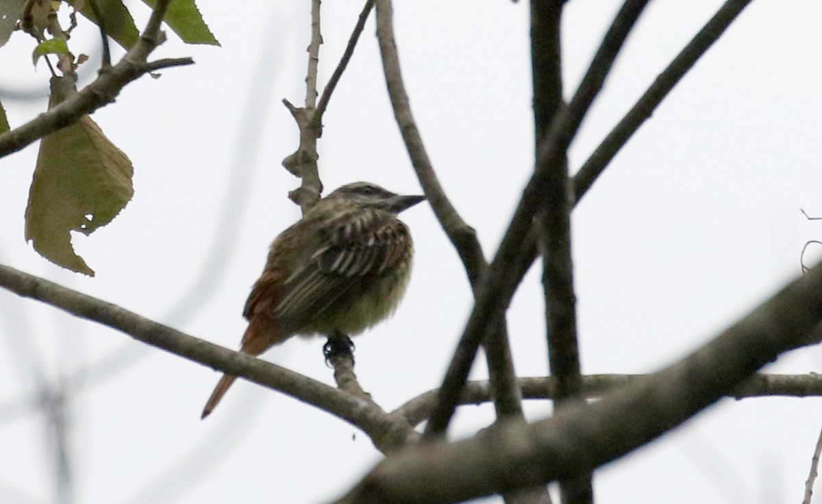
[[[619,3],[566,7],[566,96]],[[572,145],[574,169],[721,4],[652,3]],[[23,240],[35,145],[0,163],[0,262],[236,348],[266,247],[299,214],[286,199],[298,181],[280,167],[297,129],[279,100],[304,99],[308,2],[200,7],[223,47],[186,47],[171,35],[155,57],[192,55],[196,66],[138,80],[94,115],[136,171],[121,215],[90,238],[75,237],[97,277],[63,271]],[[324,85],[362,6],[323,7]],[[135,9],[142,26],[147,10]],[[395,5],[423,140],[489,255],[533,164],[528,11],[524,0]],[[822,237],[822,224],[799,213],[822,215],[820,16],[822,4],[810,0],[753,2],[575,210],[584,373],[659,369],[799,273],[802,245]],[[76,39],[94,52],[97,34],[85,30]],[[367,180],[417,194],[374,32],[372,18],[326,113],[321,175],[328,189]],[[0,94],[45,85],[42,63],[31,73],[30,39],[15,34],[4,49]],[[16,126],[44,110],[45,99],[6,95],[3,104]],[[408,295],[394,318],[355,340],[358,377],[386,409],[439,385],[471,305],[430,208],[403,218],[417,245]],[[508,316],[523,375],[547,373],[537,269]],[[0,502],[55,502],[44,415],[23,407],[38,374],[49,382],[85,377],[69,392],[76,502],[327,502],[380,458],[357,429],[247,383],[201,422],[218,373],[5,291],[0,336]],[[333,383],[322,343],[295,339],[265,358]],[[474,376],[482,378],[478,362]],[[813,348],[768,370],[820,367],[822,351]],[[527,410],[540,419],[550,407],[530,402]],[[470,435],[491,419],[490,406],[464,408],[455,433]],[[723,401],[599,470],[596,502],[801,502],[820,423],[816,399]]]

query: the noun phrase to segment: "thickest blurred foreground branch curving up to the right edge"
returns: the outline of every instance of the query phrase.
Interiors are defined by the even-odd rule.
[[[676,428],[779,354],[805,345],[820,320],[817,264],[667,369],[536,424],[510,423],[460,442],[408,447],[337,502],[463,502],[591,471]]]

